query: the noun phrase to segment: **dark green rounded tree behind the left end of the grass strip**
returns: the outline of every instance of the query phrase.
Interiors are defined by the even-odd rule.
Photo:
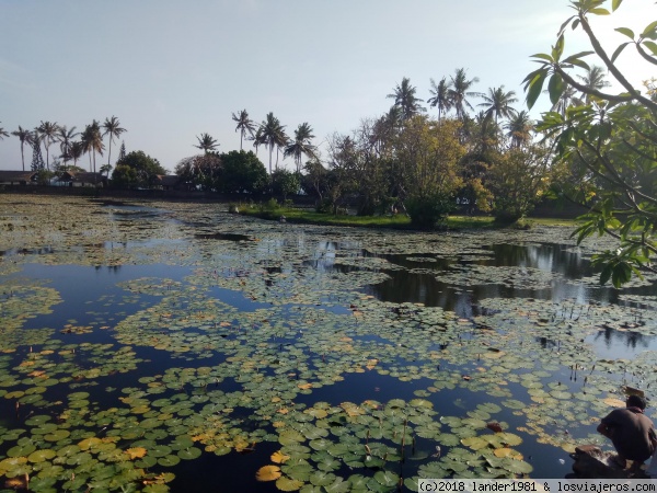
[[[253,151],[221,154],[218,190],[223,193],[260,193],[267,186],[267,169]]]

